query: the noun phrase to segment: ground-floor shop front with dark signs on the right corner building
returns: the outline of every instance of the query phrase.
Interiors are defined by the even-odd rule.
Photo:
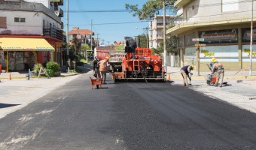
[[[200,71],[209,71],[207,65],[212,57],[217,58],[225,66],[226,71],[247,70],[250,63],[250,28],[217,28],[218,30],[197,30],[189,34],[178,35],[179,54],[181,65],[200,64]],[[193,41],[194,38],[203,41]],[[253,32],[253,40],[256,42],[256,28]],[[197,59],[197,46],[199,47],[199,59]],[[256,51],[252,49],[252,68],[256,70]]]

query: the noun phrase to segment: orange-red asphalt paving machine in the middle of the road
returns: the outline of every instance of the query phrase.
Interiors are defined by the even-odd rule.
[[[126,47],[125,52],[126,56],[123,57],[121,69],[112,74],[112,80],[114,80],[114,82],[165,81],[162,58],[158,55],[154,55],[152,49],[136,48],[133,54],[133,52]]]

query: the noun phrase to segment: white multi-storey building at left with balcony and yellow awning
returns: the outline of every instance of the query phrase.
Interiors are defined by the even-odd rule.
[[[58,9],[63,0],[44,3],[53,8],[39,2],[0,1],[0,64],[9,71],[27,71],[37,62],[63,65],[61,46],[66,36],[62,31],[63,13]]]

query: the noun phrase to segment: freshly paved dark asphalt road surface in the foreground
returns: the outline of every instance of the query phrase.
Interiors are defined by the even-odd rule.
[[[254,113],[166,83],[91,89],[90,75],[1,118],[0,149],[256,149]]]

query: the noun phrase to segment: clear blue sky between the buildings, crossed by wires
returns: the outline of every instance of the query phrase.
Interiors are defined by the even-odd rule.
[[[142,8],[146,1],[148,0],[69,0],[69,31],[73,27],[91,30],[92,22],[94,37],[98,37],[105,45],[114,43],[115,40],[124,40],[123,37],[126,36],[135,37],[139,34],[146,34],[143,28],[148,27],[149,23],[145,20],[141,21],[138,17],[133,17],[133,13],[129,11],[109,12],[126,10],[125,4],[139,5],[139,8]],[[64,17],[62,17],[64,30],[67,31],[66,0],[61,8],[64,11]],[[102,12],[105,10],[108,12]]]

